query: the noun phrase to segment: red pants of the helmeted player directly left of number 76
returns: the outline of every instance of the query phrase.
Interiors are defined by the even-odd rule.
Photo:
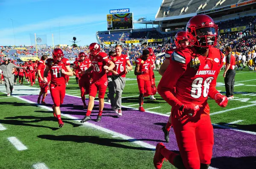
[[[106,80],[98,80],[96,82],[92,82],[89,87],[89,95],[96,97],[97,91],[99,90],[99,99],[104,99],[106,90],[108,87],[108,79]]]

